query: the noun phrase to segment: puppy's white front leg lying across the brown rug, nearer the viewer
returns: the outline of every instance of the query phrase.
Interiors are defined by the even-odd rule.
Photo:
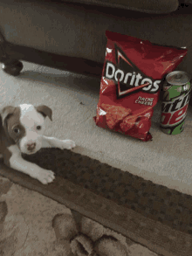
[[[10,146],[11,156],[9,161],[4,157],[4,163],[15,170],[19,170],[29,176],[38,179],[43,184],[51,183],[55,178],[51,170],[45,170],[35,163],[30,163],[24,160],[17,149],[17,146]]]

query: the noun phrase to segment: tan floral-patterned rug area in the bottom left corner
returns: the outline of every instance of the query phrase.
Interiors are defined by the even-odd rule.
[[[1,256],[158,256],[49,197],[0,176]]]

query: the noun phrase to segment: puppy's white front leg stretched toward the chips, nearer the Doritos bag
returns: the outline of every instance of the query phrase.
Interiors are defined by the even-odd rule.
[[[43,136],[43,148],[73,149],[75,142]]]

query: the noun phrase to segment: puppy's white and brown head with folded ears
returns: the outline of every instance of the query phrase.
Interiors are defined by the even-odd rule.
[[[42,147],[45,132],[45,117],[51,120],[50,107],[34,107],[22,104],[19,107],[7,106],[1,110],[3,129],[12,143],[16,143],[24,154],[34,154]]]

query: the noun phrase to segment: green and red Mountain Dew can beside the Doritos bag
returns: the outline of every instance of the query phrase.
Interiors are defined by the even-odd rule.
[[[181,134],[191,93],[190,75],[182,71],[168,73],[162,91],[161,130],[167,135]]]

